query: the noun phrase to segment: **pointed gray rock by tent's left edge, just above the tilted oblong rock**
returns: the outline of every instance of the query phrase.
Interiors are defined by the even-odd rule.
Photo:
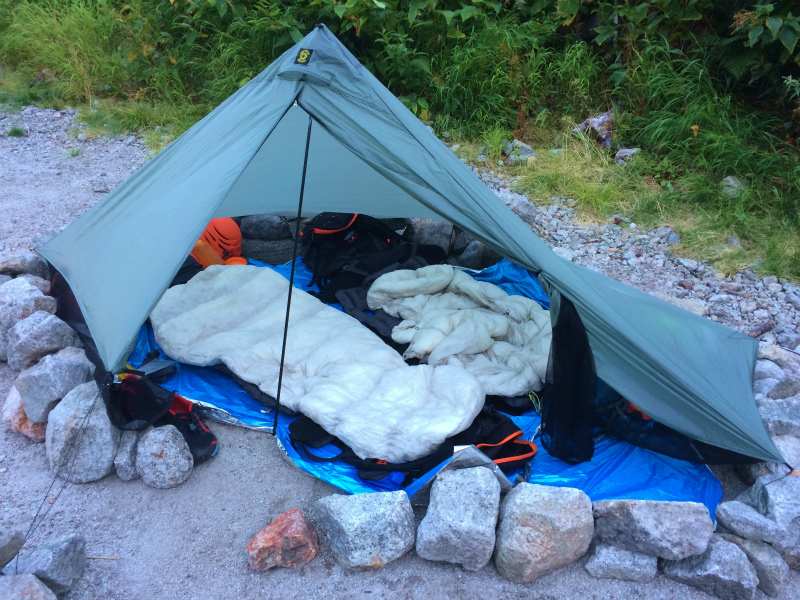
[[[8,366],[21,371],[69,346],[83,346],[78,334],[55,315],[40,310],[8,330]]]

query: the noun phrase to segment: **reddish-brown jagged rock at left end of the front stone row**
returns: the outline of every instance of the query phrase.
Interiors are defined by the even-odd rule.
[[[308,526],[303,511],[286,511],[247,543],[250,568],[302,567],[319,552],[317,534]]]

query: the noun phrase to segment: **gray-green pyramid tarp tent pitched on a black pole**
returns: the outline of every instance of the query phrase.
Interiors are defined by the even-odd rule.
[[[109,370],[211,218],[297,213],[309,125],[304,215],[457,225],[571,300],[598,376],[647,414],[783,462],[753,398],[756,340],[555,255],[322,25],[38,248]]]

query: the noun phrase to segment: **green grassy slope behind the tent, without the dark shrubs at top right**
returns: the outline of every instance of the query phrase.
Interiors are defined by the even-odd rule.
[[[189,15],[178,3],[145,0],[0,0],[0,102],[71,104],[87,137],[135,133],[158,152],[291,43],[286,28],[298,23],[286,14],[301,5],[260,3],[230,18],[235,3],[228,3],[222,19],[210,3]],[[503,169],[521,175],[535,201],[572,197],[585,220],[622,213],[642,227],[668,224],[681,235],[672,248],[678,254],[726,273],[756,264],[800,280],[800,156],[792,138],[800,137],[800,113],[787,127],[785,110],[776,117],[737,100],[702,52],[684,54],[656,37],[612,58],[571,33],[547,33],[535,19],[468,23],[464,39],[458,31],[433,35],[433,22],[404,25],[402,35],[382,34],[396,43],[377,54],[369,34],[340,39],[367,64],[380,63],[393,92],[426,100],[426,117],[459,143],[460,156],[474,160],[482,148],[484,165],[497,166],[507,141],[531,144],[539,157],[530,167]],[[190,28],[198,33],[193,43],[185,41]],[[429,71],[411,68],[423,58]],[[624,166],[571,133],[612,104],[622,108],[616,143],[642,148]],[[747,189],[724,194],[727,175]]]

